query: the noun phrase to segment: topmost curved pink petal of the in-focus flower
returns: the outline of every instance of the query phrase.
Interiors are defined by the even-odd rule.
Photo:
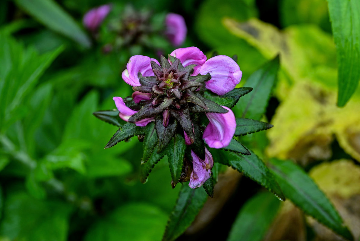
[[[190,64],[197,64],[194,69],[199,68],[206,61],[206,56],[197,47],[175,49],[170,55],[180,59],[184,67]]]

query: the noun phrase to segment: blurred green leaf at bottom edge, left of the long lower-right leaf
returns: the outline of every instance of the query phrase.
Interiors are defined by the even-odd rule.
[[[269,192],[262,192],[252,197],[241,208],[227,240],[263,240],[279,207],[280,201]]]

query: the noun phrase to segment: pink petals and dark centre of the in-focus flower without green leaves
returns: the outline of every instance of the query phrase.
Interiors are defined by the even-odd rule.
[[[219,106],[221,111],[210,111],[206,105],[208,102],[204,102],[206,99],[199,94],[200,88],[203,88],[203,83],[199,84],[196,79],[195,81],[189,79],[192,79],[192,76],[208,76],[206,81],[203,81],[205,90],[210,90],[217,95],[224,95],[233,90],[240,82],[242,72],[239,65],[225,55],[207,59],[197,47],[176,49],[167,60],[164,59],[161,59],[162,64],[160,64],[156,59],[151,59],[148,56],[135,55],[130,58],[126,69],[122,72],[122,78],[127,84],[133,86],[135,91],[132,94],[132,99],[135,104],[149,103],[146,105],[146,108],[149,108],[146,113],[156,113],[156,115],[162,113],[163,126],[167,127],[171,115],[177,117],[177,113],[188,108],[188,103],[195,103],[195,107],[200,108],[199,113],[205,113],[209,121],[203,130],[202,139],[212,148],[228,146],[236,128],[234,113],[225,106],[222,108]],[[165,67],[161,69],[160,66],[166,64],[164,61],[168,62],[168,69]],[[178,65],[183,67],[182,71]],[[144,77],[155,78],[151,82],[144,81]],[[120,118],[124,121],[135,122],[137,126],[146,126],[149,122],[155,121],[155,114],[153,116],[151,114],[145,115],[143,109],[132,109],[126,106],[121,97],[113,97],[113,100],[120,112]],[[184,112],[188,112],[188,110],[184,109]],[[138,118],[138,112],[143,112],[144,115]],[[136,118],[134,114],[136,114]],[[184,125],[182,124],[182,127]],[[196,141],[194,135],[191,128],[190,130],[184,128],[186,145],[192,145]],[[189,186],[197,188],[211,176],[213,158],[206,148],[204,159],[199,158],[193,150],[191,156],[193,168]]]

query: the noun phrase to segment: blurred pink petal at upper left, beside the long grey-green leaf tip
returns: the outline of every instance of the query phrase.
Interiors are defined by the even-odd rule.
[[[89,12],[84,15],[82,23],[90,31],[95,31],[103,22],[105,17],[109,14],[110,10],[110,4],[105,4],[99,6],[98,8],[90,9]]]

